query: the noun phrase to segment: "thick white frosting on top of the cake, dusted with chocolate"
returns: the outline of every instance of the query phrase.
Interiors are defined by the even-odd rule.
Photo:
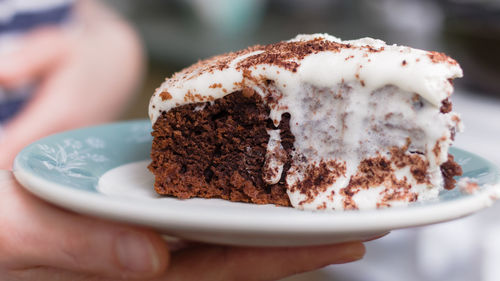
[[[274,54],[275,50],[266,51],[259,48],[265,46],[257,46],[212,58],[195,65],[198,69],[191,67],[176,73],[152,96],[149,106],[151,121],[154,123],[162,111],[172,107],[221,98],[261,82],[245,77],[247,71],[251,71],[253,77],[276,81],[279,90],[289,95],[299,91],[303,84],[333,87],[342,81],[359,81],[371,89],[395,85],[419,94],[435,106],[451,95],[453,86],[448,80],[462,77],[460,66],[444,54],[387,45],[372,38],[342,41],[328,34],[310,34],[298,35],[282,43],[308,41],[332,42],[338,48],[320,50],[304,57],[290,57],[286,61],[298,65],[292,70],[265,60],[242,65],[245,60]],[[165,98],[162,93],[171,97]],[[189,94],[191,97],[186,98]]]

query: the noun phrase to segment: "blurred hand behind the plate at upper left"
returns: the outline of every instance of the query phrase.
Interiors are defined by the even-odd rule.
[[[143,63],[132,28],[92,0],[77,2],[65,28],[24,36],[19,48],[0,55],[0,87],[33,81],[37,87],[3,128],[0,168],[10,168],[19,150],[41,137],[116,118],[139,85]]]

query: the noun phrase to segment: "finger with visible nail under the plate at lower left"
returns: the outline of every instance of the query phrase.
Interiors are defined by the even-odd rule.
[[[165,271],[168,249],[155,232],[62,211],[12,177],[0,186],[0,265],[142,279]]]

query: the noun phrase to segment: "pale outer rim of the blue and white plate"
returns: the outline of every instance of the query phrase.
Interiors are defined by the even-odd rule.
[[[76,130],[66,131],[59,134],[54,134],[41,139],[40,141],[47,141],[51,138],[60,136],[62,134],[73,134],[74,132],[82,132],[88,129],[94,129],[97,127],[107,127],[107,126],[127,126],[134,123],[143,123],[145,120],[132,120],[123,122],[113,122],[107,123],[99,126],[89,126],[85,128],[80,128]],[[149,122],[149,121],[148,121]],[[38,142],[40,142],[38,141]],[[308,233],[307,226],[315,226],[314,230],[326,231],[326,232],[352,232],[352,231],[373,231],[373,230],[385,230],[385,229],[396,229],[405,228],[419,225],[426,225],[432,223],[438,223],[450,219],[460,218],[476,211],[484,209],[500,197],[500,170],[499,168],[491,163],[489,160],[478,156],[476,154],[470,153],[466,150],[455,148],[455,150],[462,151],[473,157],[488,163],[490,166],[494,167],[494,174],[496,176],[496,182],[492,183],[490,187],[480,190],[478,193],[473,195],[464,195],[462,198],[454,199],[447,202],[438,202],[436,204],[426,204],[426,205],[415,205],[411,207],[402,208],[389,208],[389,209],[378,209],[378,210],[363,210],[363,211],[344,211],[344,212],[309,212],[309,211],[294,211],[294,216],[300,218],[299,220],[282,220],[282,217],[273,218],[272,221],[262,221],[262,220],[252,220],[249,218],[245,221],[240,221],[237,216],[231,216],[231,213],[227,212],[217,212],[217,210],[208,210],[209,214],[222,216],[224,220],[216,221],[203,221],[200,220],[199,214],[189,213],[179,219],[178,210],[169,210],[168,205],[151,204],[149,208],[144,208],[144,205],[130,205],[132,202],[125,198],[110,198],[103,196],[103,194],[97,192],[89,192],[85,190],[79,190],[71,188],[65,185],[51,182],[45,178],[38,175],[33,175],[23,169],[23,164],[20,160],[20,155],[27,149],[36,145],[35,142],[25,149],[23,149],[18,157],[16,157],[14,162],[13,172],[17,180],[30,192],[36,196],[47,200],[51,203],[59,205],[61,207],[89,214],[94,216],[99,216],[103,218],[132,222],[137,224],[142,224],[146,226],[157,226],[165,225],[166,227],[176,227],[176,228],[196,228],[196,229],[209,229],[209,228],[219,228],[228,229],[231,231],[239,230],[251,233],[258,229],[262,231],[264,228],[271,228],[273,231],[280,229],[284,232],[295,232],[295,233]],[[123,163],[125,164],[125,163]],[[62,200],[64,199],[64,200]],[[91,203],[89,203],[91,202]],[[87,204],[88,203],[88,204]],[[235,203],[242,204],[242,203]],[[119,213],[119,210],[128,209],[124,216],[123,213]],[[458,210],[458,211],[457,211]],[[211,212],[211,213],[210,213]],[[161,216],[158,216],[161,213]],[[311,214],[313,214],[311,216]],[[303,219],[306,217],[306,219]],[[308,220],[313,217],[314,221],[308,223]],[[408,220],[408,218],[411,218]],[[229,220],[229,221],[227,221]],[[364,221],[363,225],[352,223],[355,221]],[[372,223],[370,223],[370,221]],[[294,223],[296,222],[296,223]],[[323,227],[318,227],[318,225],[324,224]]]

